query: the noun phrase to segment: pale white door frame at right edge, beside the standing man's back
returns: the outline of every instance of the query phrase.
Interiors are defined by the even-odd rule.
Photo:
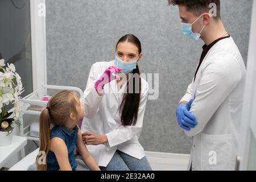
[[[253,1],[251,30],[248,49],[246,85],[243,96],[241,140],[238,144],[239,169],[246,171],[249,161],[251,138],[256,137],[256,2]]]

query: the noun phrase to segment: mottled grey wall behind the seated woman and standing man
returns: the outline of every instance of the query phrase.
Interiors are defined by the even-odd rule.
[[[222,1],[222,19],[247,59],[252,0]],[[159,73],[159,99],[147,102],[145,150],[189,153],[191,138],[175,109],[196,70],[203,42],[185,38],[177,7],[166,0],[46,0],[48,84],[85,89],[90,67],[115,57],[115,44],[132,33],[141,40],[141,72]]]

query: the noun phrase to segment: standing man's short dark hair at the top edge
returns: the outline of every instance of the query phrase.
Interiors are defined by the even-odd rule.
[[[188,11],[200,16],[203,13],[209,13],[212,7],[209,7],[210,3],[215,3],[217,7],[217,15],[215,19],[220,19],[220,0],[168,0],[169,5],[183,5]]]

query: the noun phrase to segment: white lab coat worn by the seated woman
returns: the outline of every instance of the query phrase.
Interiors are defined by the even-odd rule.
[[[87,145],[88,150],[96,159],[98,166],[108,166],[116,150],[125,152],[137,159],[142,159],[144,149],[139,143],[144,111],[148,95],[148,83],[141,77],[141,102],[139,104],[138,118],[135,126],[122,126],[119,106],[123,98],[126,84],[117,90],[117,81],[114,80],[104,86],[104,96],[98,96],[94,83],[102,73],[114,65],[114,61],[97,62],[90,69],[88,82],[84,91],[85,117],[81,131],[91,131],[96,134],[106,134],[108,143],[98,146]]]

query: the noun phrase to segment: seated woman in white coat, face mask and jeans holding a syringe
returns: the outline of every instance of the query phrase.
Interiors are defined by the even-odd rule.
[[[151,170],[139,143],[148,84],[141,76],[137,80],[131,78],[140,74],[137,63],[141,57],[141,42],[128,34],[119,39],[115,60],[95,63],[90,69],[84,92],[87,119],[84,118],[81,131],[102,170]],[[130,92],[132,79],[134,87]],[[136,89],[139,93],[134,92]]]

